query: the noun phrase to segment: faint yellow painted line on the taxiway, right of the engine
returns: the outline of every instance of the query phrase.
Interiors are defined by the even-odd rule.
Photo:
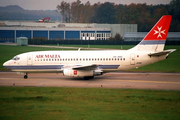
[[[161,82],[161,81],[142,81],[142,80],[105,80],[105,81],[121,81],[121,82],[141,82],[141,83],[169,83],[169,84],[180,84],[180,82]]]

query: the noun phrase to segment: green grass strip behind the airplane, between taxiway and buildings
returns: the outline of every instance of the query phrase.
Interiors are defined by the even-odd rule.
[[[67,47],[88,47],[87,45],[61,45]],[[90,45],[90,48],[107,48],[107,49],[129,49],[133,45]],[[138,69],[128,71],[135,72],[180,72],[180,46],[165,46],[165,49],[177,49],[171,53],[169,58],[158,63],[147,65]],[[0,45],[0,70],[6,70],[2,65],[5,61],[12,59],[15,55],[30,52],[30,51],[43,51],[43,50],[69,50],[62,48],[42,48],[42,47],[29,47],[29,46],[8,46]]]

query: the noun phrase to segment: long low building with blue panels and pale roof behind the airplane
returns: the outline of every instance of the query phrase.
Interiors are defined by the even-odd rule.
[[[0,21],[0,42],[18,37],[47,40],[108,40],[119,33],[137,32],[137,24],[81,24],[59,22]]]

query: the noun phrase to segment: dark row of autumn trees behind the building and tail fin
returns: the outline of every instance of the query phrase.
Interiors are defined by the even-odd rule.
[[[91,4],[80,0],[72,3],[62,1],[56,7],[66,23],[138,24],[139,32],[147,32],[163,15],[173,15],[170,31],[180,31],[180,1],[172,0],[167,5],[129,5],[111,2]]]

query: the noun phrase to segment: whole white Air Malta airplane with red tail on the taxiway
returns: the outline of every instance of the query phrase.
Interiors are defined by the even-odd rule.
[[[24,73],[63,73],[91,79],[107,72],[139,68],[167,59],[176,49],[164,50],[172,16],[164,15],[135,47],[129,50],[36,51],[16,55],[4,67]]]

